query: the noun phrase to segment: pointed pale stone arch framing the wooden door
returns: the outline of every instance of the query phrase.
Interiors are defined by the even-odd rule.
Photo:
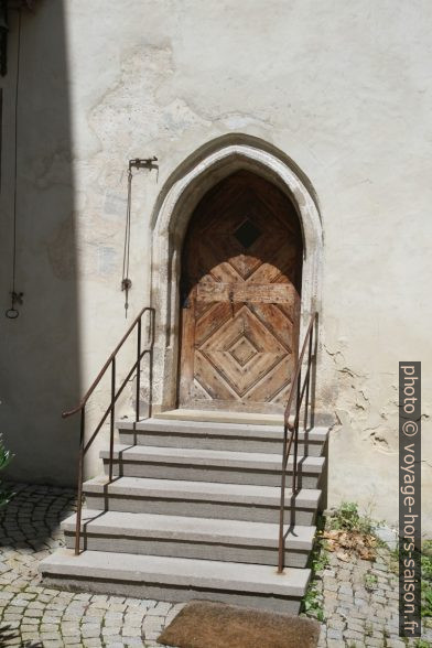
[[[151,301],[156,311],[153,410],[176,403],[181,252],[191,215],[205,193],[238,170],[276,184],[293,203],[302,228],[303,271],[300,341],[321,310],[323,228],[312,184],[288,155],[258,138],[218,138],[185,160],[166,181],[151,219]]]

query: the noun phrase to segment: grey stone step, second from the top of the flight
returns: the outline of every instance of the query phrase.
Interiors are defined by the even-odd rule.
[[[108,473],[109,451],[101,451],[100,456]],[[324,463],[324,457],[299,456],[299,487],[316,488]],[[292,466],[293,457],[290,456],[289,474]],[[280,471],[281,457],[273,453],[121,444],[114,449],[114,474],[127,477],[278,486]]]

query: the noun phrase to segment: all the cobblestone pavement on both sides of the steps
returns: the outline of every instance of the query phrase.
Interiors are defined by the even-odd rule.
[[[0,647],[160,646],[155,639],[181,604],[41,585],[37,563],[62,544],[58,525],[74,509],[75,493],[18,484],[13,490],[14,497],[0,510]],[[398,582],[389,569],[389,552],[379,550],[375,563],[328,555],[330,564],[315,585],[325,616],[320,647],[403,648],[407,644],[398,637]],[[423,639],[432,646],[431,628]]]

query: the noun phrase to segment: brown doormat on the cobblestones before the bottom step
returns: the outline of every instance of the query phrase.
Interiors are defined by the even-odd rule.
[[[316,648],[318,636],[312,619],[192,601],[158,641],[177,648]]]

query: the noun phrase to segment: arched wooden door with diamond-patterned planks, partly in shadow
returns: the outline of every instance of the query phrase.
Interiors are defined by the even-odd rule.
[[[280,411],[298,352],[302,236],[273,184],[241,171],[197,205],[181,279],[179,406]]]

